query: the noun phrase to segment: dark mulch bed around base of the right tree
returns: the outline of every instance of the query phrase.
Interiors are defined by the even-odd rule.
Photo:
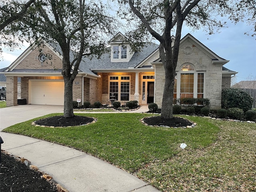
[[[191,126],[192,122],[180,118],[180,117],[174,117],[172,119],[166,119],[162,118],[161,116],[154,116],[149,118],[144,118],[144,122],[148,125],[158,125],[158,126],[169,126],[169,127],[186,127]]]

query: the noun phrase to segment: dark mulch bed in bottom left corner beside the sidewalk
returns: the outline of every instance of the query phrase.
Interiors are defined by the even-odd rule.
[[[41,178],[42,174],[39,172],[2,152],[1,157],[1,192],[57,192],[56,187]]]

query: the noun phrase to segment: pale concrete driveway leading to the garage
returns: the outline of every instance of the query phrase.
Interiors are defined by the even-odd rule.
[[[60,105],[18,105],[0,108],[0,131],[11,125],[51,113],[61,113]]]

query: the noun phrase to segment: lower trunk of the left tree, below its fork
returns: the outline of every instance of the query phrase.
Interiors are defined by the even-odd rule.
[[[74,116],[73,112],[73,81],[64,77],[64,117]]]

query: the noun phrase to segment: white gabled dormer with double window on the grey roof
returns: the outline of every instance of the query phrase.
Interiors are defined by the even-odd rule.
[[[118,32],[110,41],[111,62],[129,62],[134,52],[128,43],[128,39]]]

